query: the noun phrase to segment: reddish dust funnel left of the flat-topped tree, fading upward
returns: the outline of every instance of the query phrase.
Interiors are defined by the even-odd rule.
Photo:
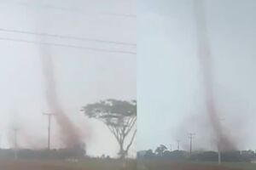
[[[41,47],[41,61],[44,71],[44,80],[46,82],[45,97],[49,110],[55,114],[55,121],[60,128],[61,143],[66,147],[76,144],[82,144],[82,135],[79,129],[73,125],[73,122],[68,118],[66,113],[61,108],[60,99],[58,99],[56,83],[55,83],[55,68],[51,54],[46,53],[49,49],[44,46]]]

